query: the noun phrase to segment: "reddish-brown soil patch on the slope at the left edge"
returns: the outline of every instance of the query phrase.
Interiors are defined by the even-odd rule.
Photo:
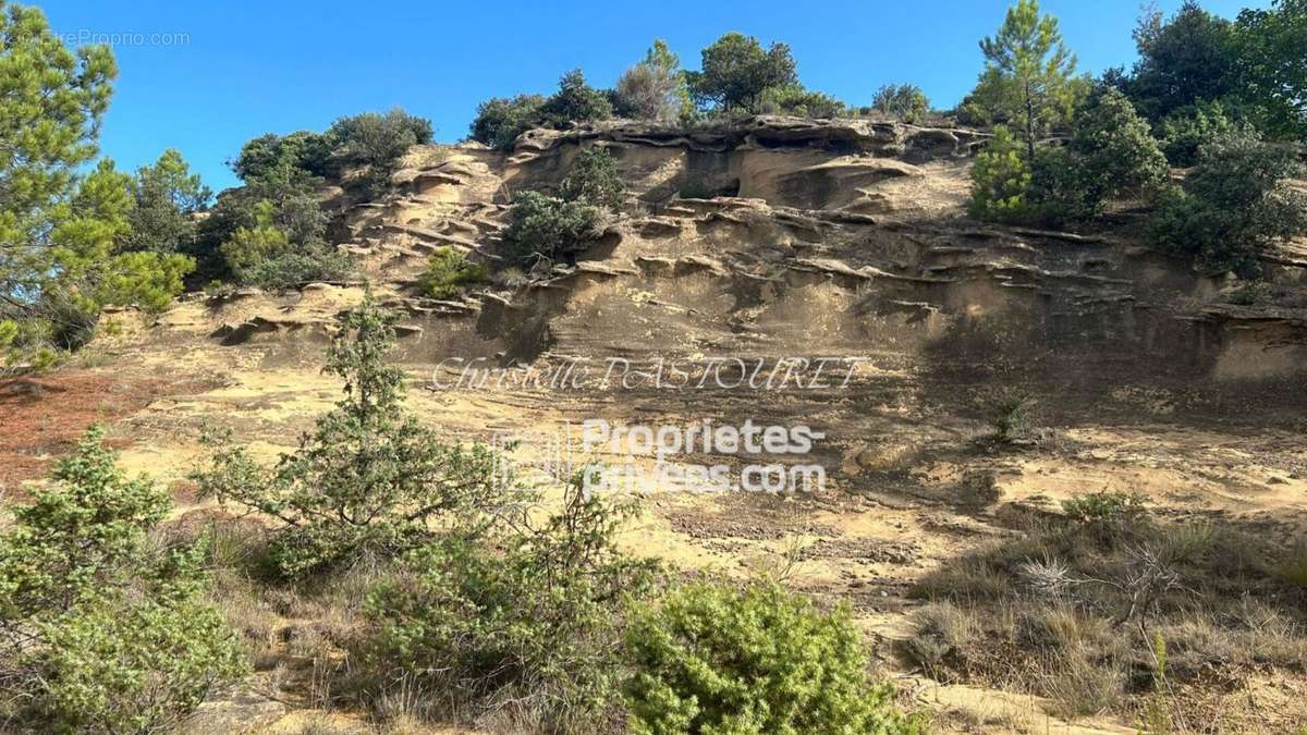
[[[44,475],[67,454],[86,428],[112,424],[157,398],[212,387],[203,381],[169,381],[90,370],[0,381],[0,492],[13,498],[25,480]],[[108,439],[129,446],[129,439]]]

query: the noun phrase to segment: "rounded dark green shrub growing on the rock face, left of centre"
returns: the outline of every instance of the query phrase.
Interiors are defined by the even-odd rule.
[[[501,233],[506,260],[532,268],[571,252],[599,225],[599,209],[524,191],[512,201],[508,226]]]

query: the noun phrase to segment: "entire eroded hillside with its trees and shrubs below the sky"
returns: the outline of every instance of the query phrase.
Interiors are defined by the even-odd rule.
[[[0,730],[1307,727],[1307,4],[995,22],[953,110],[654,41],[214,195],[0,3]]]

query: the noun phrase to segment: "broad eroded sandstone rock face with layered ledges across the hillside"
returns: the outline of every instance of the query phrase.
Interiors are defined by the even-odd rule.
[[[420,146],[399,195],[346,209],[336,235],[412,313],[414,361],[838,353],[940,381],[1021,373],[1091,391],[1129,374],[1302,392],[1303,310],[1213,305],[1219,285],[1125,235],[963,218],[984,139],[757,116],[537,129],[511,152]],[[630,199],[575,267],[463,302],[410,298],[438,247],[497,259],[512,194],[557,187],[587,146],[613,153]],[[1291,256],[1274,267],[1302,282]],[[324,328],[294,315],[223,324],[225,344]]]

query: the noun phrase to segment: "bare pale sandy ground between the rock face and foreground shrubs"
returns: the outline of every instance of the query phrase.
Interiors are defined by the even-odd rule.
[[[34,381],[35,388],[7,385],[7,428],[25,426],[7,432],[4,451],[24,458],[7,463],[9,488],[24,475],[39,476],[52,456],[69,449],[81,426],[103,420],[123,450],[123,464],[174,488],[178,511],[186,513],[197,507],[186,476],[203,460],[199,436],[205,425],[234,429],[271,462],[335,400],[339,382],[322,374],[311,350],[288,357],[278,343],[214,347],[201,336],[212,324],[178,326],[183,316],[174,314],[173,326],[105,337],[94,345],[102,365],[63,369]],[[165,339],[152,339],[156,335]],[[501,432],[523,439],[515,459],[528,479],[540,480],[532,468],[549,459],[553,442],[569,426],[575,442],[574,422],[596,405],[625,412],[620,403],[550,391],[433,391],[417,366],[413,377],[409,407],[451,439],[490,441]],[[1127,391],[1120,400],[1140,399]],[[682,411],[664,408],[665,413],[656,403],[642,404],[650,422]],[[908,633],[907,616],[919,604],[907,598],[912,582],[1001,538],[1006,531],[999,518],[1009,504],[1055,507],[1061,498],[1120,489],[1142,493],[1166,513],[1218,515],[1286,539],[1300,535],[1307,519],[1307,445],[1300,433],[1247,425],[1222,429],[1214,421],[1185,425],[1166,421],[1165,407],[1161,416],[1142,415],[1149,420],[1110,425],[1084,417],[1059,430],[1059,439],[1047,447],[997,454],[967,443],[968,434],[984,428],[965,419],[912,424],[911,432],[904,420],[903,433],[853,445],[834,458],[836,489],[825,493],[648,492],[644,513],[626,530],[623,544],[686,572],[744,578],[786,568],[795,589],[848,600],[904,696],[950,713],[940,719],[945,728],[1133,731],[1131,723],[1110,719],[1067,725],[1023,694],[936,684],[902,666],[894,641]],[[850,421],[860,425],[856,417]],[[942,446],[931,439],[933,449],[921,450],[936,434],[955,438]],[[976,472],[992,477],[984,502],[967,501],[961,489]],[[318,715],[294,711],[273,731],[295,731],[311,717]]]

